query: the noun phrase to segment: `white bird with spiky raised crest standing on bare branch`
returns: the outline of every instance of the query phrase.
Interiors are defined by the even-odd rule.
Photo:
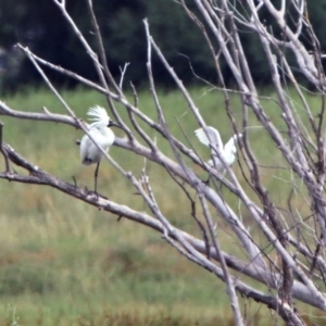
[[[89,134],[96,140],[96,142],[105,152],[108,152],[115,138],[110,127],[115,126],[121,128],[121,126],[110,120],[105,109],[99,105],[90,108],[87,112],[87,115],[90,116],[89,120],[92,121],[89,126]],[[95,171],[95,193],[97,193],[97,179],[102,156],[102,152],[95,145],[95,142],[88,137],[88,135],[84,135],[80,141],[82,163],[85,165],[97,163],[97,168]]]

